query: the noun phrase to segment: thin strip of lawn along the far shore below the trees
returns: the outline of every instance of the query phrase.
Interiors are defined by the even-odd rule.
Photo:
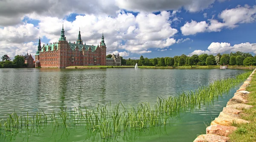
[[[134,68],[134,66],[70,66],[66,69],[108,69],[108,68]],[[140,69],[219,69],[220,66],[177,66],[177,67],[155,67],[155,66],[139,66]],[[229,69],[255,69],[253,67],[229,66]]]

